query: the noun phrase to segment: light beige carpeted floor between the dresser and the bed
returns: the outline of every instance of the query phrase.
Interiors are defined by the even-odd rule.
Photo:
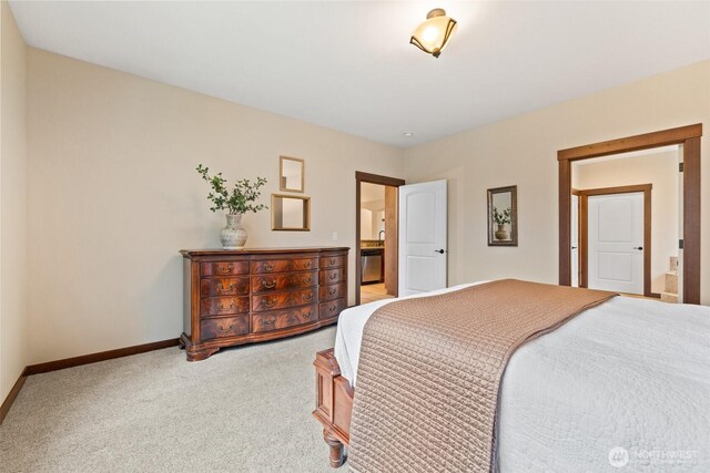
[[[314,409],[335,328],[222,350],[178,348],[30,377],[0,426],[9,472],[333,472]]]

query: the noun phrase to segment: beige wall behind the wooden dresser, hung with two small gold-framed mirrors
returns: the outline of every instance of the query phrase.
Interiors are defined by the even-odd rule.
[[[266,177],[267,204],[278,156],[305,160],[312,230],[250,214],[250,247],[354,248],[355,171],[404,174],[399,148],[33,49],[28,111],[32,363],[181,333],[178,251],[217,247],[224,226],[197,163]],[[349,269],[352,304],[352,253]]]

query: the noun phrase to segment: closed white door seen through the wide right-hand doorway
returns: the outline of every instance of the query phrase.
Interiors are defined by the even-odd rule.
[[[590,289],[643,295],[643,193],[589,196]]]

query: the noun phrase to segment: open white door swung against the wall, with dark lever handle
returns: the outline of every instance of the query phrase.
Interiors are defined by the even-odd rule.
[[[399,297],[446,287],[446,181],[399,187]]]

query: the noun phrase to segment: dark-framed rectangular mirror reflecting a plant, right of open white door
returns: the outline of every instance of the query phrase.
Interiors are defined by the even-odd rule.
[[[488,246],[518,246],[518,186],[488,189]]]

